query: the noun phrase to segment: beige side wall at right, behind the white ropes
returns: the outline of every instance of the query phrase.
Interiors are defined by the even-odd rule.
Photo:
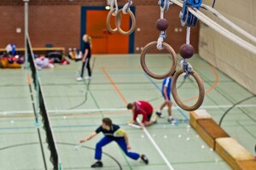
[[[204,3],[210,5],[212,0]],[[215,8],[226,18],[233,21],[245,31],[256,37],[256,1],[255,0],[225,0],[216,1]],[[219,24],[223,23],[212,14],[204,12]],[[240,36],[233,31],[230,26],[221,24],[229,31]],[[220,71],[239,82],[253,94],[256,94],[256,55],[246,49],[231,42],[217,31],[201,23],[199,54],[203,59],[216,66]],[[245,38],[245,37],[242,37]],[[246,39],[247,40],[247,39]],[[248,42],[251,42],[247,40]],[[256,45],[254,43],[254,45]]]

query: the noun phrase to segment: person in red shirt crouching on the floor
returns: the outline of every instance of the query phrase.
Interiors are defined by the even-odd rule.
[[[134,103],[129,103],[127,109],[132,111],[133,118],[131,123],[137,123],[137,116],[139,114],[143,115],[141,123],[142,127],[148,127],[156,122],[156,116],[153,120],[150,120],[153,113],[153,107],[147,101],[139,100]]]

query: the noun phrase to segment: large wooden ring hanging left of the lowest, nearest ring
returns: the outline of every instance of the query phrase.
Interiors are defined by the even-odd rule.
[[[153,72],[149,71],[148,70],[148,67],[146,65],[146,54],[147,54],[147,51],[149,48],[151,47],[156,47],[157,45],[157,42],[154,41],[154,42],[149,42],[144,48],[143,48],[143,51],[142,51],[142,54],[141,54],[141,65],[143,67],[143,71],[145,71],[147,73],[147,75],[149,77],[152,77],[152,78],[155,78],[155,79],[164,79],[166,77],[170,77],[172,75],[172,73],[176,70],[176,66],[177,66],[177,56],[176,56],[176,53],[174,51],[174,49],[166,42],[163,42],[162,45],[164,48],[167,49],[167,51],[171,54],[172,56],[172,67],[170,69],[170,71],[166,72],[166,74],[164,75],[156,75],[154,74]]]

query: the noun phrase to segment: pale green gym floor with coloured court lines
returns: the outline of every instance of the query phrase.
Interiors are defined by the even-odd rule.
[[[151,71],[158,73],[169,69],[172,62],[166,54],[152,54],[147,59]],[[199,56],[189,59],[189,63],[201,76],[206,89],[201,109],[206,110],[216,122],[225,111],[240,102],[224,117],[222,127],[254,155],[256,97]],[[93,67],[90,82],[76,81],[80,62],[72,61],[71,65],[55,65],[54,69],[39,71],[63,169],[90,169],[95,161],[96,142],[102,134],[84,143],[79,150],[75,150],[74,146],[101,124],[102,117],[111,117],[114,123],[123,127],[128,133],[132,150],[148,156],[149,164],[132,161],[117,144],[112,143],[103,148],[104,167],[101,169],[167,170],[166,161],[174,169],[230,169],[189,127],[189,112],[176,106],[172,108],[172,115],[178,120],[175,125],[168,123],[165,117],[147,128],[160,150],[148,139],[147,133],[127,125],[131,120],[131,112],[125,109],[127,102],[148,100],[154,111],[163,102],[161,81],[144,74],[139,55],[94,55],[90,64]],[[0,169],[3,170],[44,170],[45,164],[47,169],[52,169],[43,125],[35,125],[28,72],[0,71]],[[188,105],[193,104],[193,97],[198,93],[195,80],[189,78],[183,82],[180,78],[177,83],[181,99],[188,101]],[[37,105],[33,87],[32,95]],[[164,115],[167,115],[166,110]],[[43,141],[43,150],[39,138]],[[166,157],[166,161],[160,154]]]

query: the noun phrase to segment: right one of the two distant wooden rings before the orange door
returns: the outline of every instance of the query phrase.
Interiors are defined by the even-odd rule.
[[[131,32],[134,31],[135,26],[136,26],[136,19],[134,14],[131,12],[131,9],[128,8],[127,13],[130,15],[131,17],[131,28],[129,31],[123,31],[121,29],[121,20],[119,20],[119,18],[121,17],[121,12],[123,11],[123,9],[119,9],[119,12],[116,14],[116,18],[115,18],[115,26],[117,27],[117,30],[119,31],[120,34],[123,34],[124,36],[128,36],[131,34]]]

